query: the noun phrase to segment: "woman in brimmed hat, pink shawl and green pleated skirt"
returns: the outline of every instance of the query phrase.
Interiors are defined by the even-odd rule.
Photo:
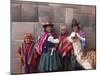
[[[36,50],[40,54],[38,70],[40,72],[57,71],[61,67],[60,59],[56,50],[59,40],[52,35],[53,24],[43,24],[44,32],[39,37]]]

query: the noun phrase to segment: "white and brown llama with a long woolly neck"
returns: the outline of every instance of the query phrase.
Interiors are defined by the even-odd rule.
[[[74,39],[77,39],[74,41]],[[84,69],[95,69],[96,67],[96,53],[95,50],[83,50],[80,39],[77,37],[77,33],[72,32],[67,39],[72,42],[74,55],[76,56],[77,62]]]

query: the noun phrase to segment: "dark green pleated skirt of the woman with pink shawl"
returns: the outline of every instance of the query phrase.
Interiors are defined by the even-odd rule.
[[[42,53],[38,64],[38,70],[40,72],[57,71],[60,69],[60,67],[61,61],[59,54],[56,51],[53,52],[53,55],[51,55],[50,50]]]

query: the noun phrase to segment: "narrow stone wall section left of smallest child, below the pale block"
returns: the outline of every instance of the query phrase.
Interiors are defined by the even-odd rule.
[[[18,48],[22,42],[14,40],[11,42],[11,73],[22,73]]]

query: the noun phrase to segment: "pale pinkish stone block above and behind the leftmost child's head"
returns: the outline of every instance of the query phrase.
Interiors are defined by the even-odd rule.
[[[34,23],[32,22],[12,22],[12,39],[22,40],[25,33],[34,35]]]

